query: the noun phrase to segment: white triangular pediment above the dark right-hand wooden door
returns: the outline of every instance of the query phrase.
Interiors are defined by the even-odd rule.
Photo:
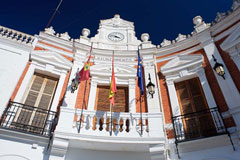
[[[178,74],[183,70],[194,70],[202,66],[202,55],[179,55],[160,68],[164,76]]]

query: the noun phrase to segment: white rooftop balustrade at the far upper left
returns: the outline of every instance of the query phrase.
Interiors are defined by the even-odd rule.
[[[34,37],[10,28],[0,26],[0,37],[12,39],[24,44],[32,44]]]

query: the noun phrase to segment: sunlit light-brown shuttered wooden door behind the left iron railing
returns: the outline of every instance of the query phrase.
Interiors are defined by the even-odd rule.
[[[16,117],[16,127],[26,127],[32,132],[42,131],[56,86],[57,79],[42,74],[34,74],[24,106]]]

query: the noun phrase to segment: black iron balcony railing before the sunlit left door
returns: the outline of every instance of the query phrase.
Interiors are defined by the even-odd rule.
[[[0,126],[43,136],[51,136],[57,113],[10,101],[0,119]]]

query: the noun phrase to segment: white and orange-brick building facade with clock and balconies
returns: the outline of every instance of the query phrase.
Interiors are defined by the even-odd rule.
[[[79,39],[0,26],[0,160],[238,160],[239,6],[212,24],[196,16],[191,35],[160,45],[120,15]],[[138,49],[155,86],[141,98]],[[90,78],[73,88],[89,56]]]

